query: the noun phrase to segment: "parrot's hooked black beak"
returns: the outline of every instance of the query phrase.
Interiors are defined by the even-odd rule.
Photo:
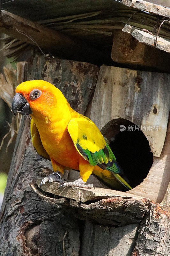
[[[21,115],[30,115],[31,111],[30,105],[26,98],[21,93],[16,93],[12,100],[12,112],[16,116],[17,113]]]

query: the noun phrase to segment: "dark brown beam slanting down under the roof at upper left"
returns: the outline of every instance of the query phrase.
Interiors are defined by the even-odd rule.
[[[55,52],[58,57],[103,63],[105,56],[77,39],[1,10],[0,32]],[[102,60],[102,58],[104,58]]]

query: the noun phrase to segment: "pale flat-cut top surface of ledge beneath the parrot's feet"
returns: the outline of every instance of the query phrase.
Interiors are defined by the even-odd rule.
[[[40,183],[43,177],[37,178],[36,183],[40,188]],[[105,189],[105,188],[77,188],[77,187],[68,187],[68,188],[59,188],[60,184],[58,182],[46,182],[42,185],[41,189],[45,192],[52,193],[56,196],[61,196],[65,198],[70,198],[76,200],[76,202],[85,203],[87,201],[102,199],[102,198],[109,198],[109,197],[123,197],[129,198],[134,197],[133,195],[116,191],[112,189]],[[140,196],[135,196],[135,198],[141,198]]]

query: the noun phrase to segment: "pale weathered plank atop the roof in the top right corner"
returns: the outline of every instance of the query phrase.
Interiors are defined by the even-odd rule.
[[[145,12],[151,12],[163,17],[170,17],[170,9],[158,4],[152,4],[142,0],[122,0],[122,4]]]

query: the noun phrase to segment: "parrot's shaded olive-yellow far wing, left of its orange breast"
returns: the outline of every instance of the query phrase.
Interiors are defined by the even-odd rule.
[[[34,123],[33,119],[31,119],[30,128],[31,128],[32,143],[33,143],[35,150],[42,158],[50,160],[50,157],[48,156],[46,150],[44,149],[44,147],[42,145],[40,134],[38,132],[37,126]]]

